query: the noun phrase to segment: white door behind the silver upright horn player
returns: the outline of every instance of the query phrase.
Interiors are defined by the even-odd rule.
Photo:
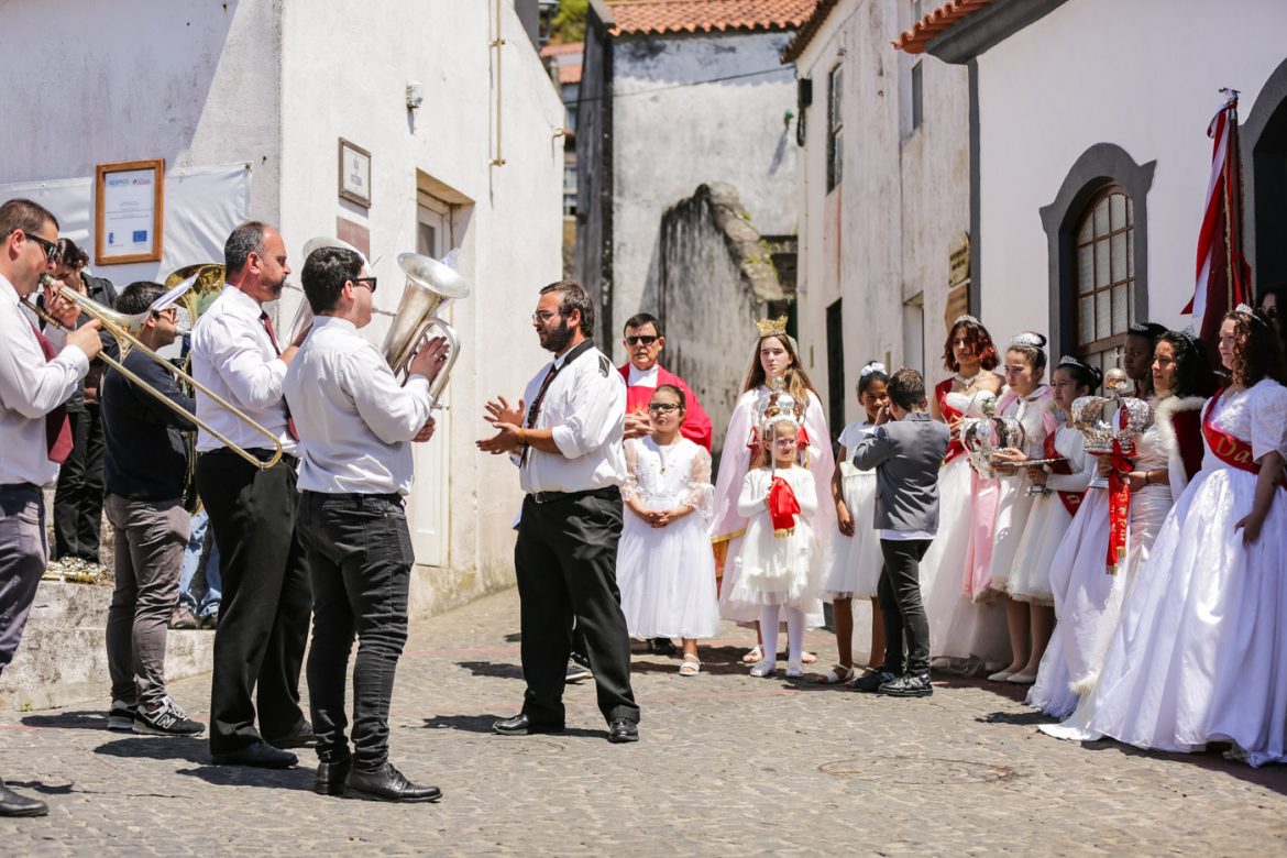
[[[416,252],[441,259],[449,250],[450,210],[432,197],[421,194],[417,208]],[[440,315],[450,322],[450,305]],[[448,385],[443,401],[450,403]],[[408,522],[416,562],[425,566],[450,563],[450,440],[452,412],[436,410],[438,428],[426,444],[416,444],[416,484],[411,493]]]

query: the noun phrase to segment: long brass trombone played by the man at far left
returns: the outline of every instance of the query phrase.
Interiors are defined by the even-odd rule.
[[[40,282],[48,289],[54,283],[54,278],[50,277],[49,274],[42,274],[41,278],[40,278]],[[171,412],[175,412],[176,414],[180,414],[180,415],[188,418],[189,421],[192,421],[193,423],[196,423],[201,428],[203,428],[207,432],[210,432],[211,435],[214,435],[216,439],[219,439],[220,441],[223,441],[224,446],[227,446],[229,450],[232,450],[237,455],[242,457],[243,459],[246,459],[247,462],[250,462],[251,464],[254,464],[256,468],[261,468],[261,470],[266,471],[268,468],[273,467],[274,464],[277,464],[282,459],[282,443],[277,439],[275,435],[273,435],[266,428],[264,428],[263,426],[260,426],[259,423],[256,423],[255,421],[252,421],[241,409],[238,409],[236,405],[233,405],[228,400],[225,400],[221,396],[211,392],[208,387],[206,387],[205,385],[202,385],[201,382],[198,382],[190,374],[188,374],[184,370],[179,369],[178,367],[175,367],[174,364],[171,364],[169,360],[166,360],[165,358],[162,358],[157,352],[152,351],[151,349],[148,349],[142,342],[139,342],[139,336],[138,334],[143,329],[143,323],[147,322],[148,314],[151,313],[149,310],[144,310],[143,313],[139,313],[136,315],[126,315],[124,313],[117,313],[116,310],[106,307],[102,304],[99,304],[98,301],[94,301],[93,298],[89,298],[89,297],[81,295],[80,292],[77,292],[75,289],[62,289],[59,292],[59,295],[67,296],[67,298],[72,304],[75,304],[76,306],[79,306],[82,313],[85,313],[91,319],[95,319],[97,322],[99,322],[103,325],[104,331],[107,331],[113,337],[116,337],[116,342],[121,347],[121,360],[117,360],[117,359],[107,355],[106,352],[104,354],[99,354],[99,358],[108,367],[111,367],[116,372],[121,373],[122,376],[125,376],[126,378],[129,378],[130,381],[133,381],[142,390],[147,391],[147,394],[149,396],[152,396],[152,399],[157,400],[158,403],[161,403],[162,405],[165,405],[166,408],[169,408]],[[50,315],[46,310],[44,310],[40,306],[36,306],[35,302],[28,301],[27,298],[22,298],[22,304],[28,310],[31,310],[32,313],[35,313],[37,316],[40,316],[41,319],[44,319],[46,324],[53,324],[53,325],[59,327],[59,328],[66,327],[66,325],[63,325],[63,323],[60,323],[58,319],[55,319],[53,315]],[[139,351],[142,351],[143,354],[145,354],[148,358],[151,358],[156,363],[161,364],[161,367],[163,367],[169,372],[174,373],[174,376],[178,377],[180,381],[183,381],[187,385],[192,385],[193,390],[201,391],[203,395],[206,395],[211,400],[214,400],[218,405],[220,405],[220,406],[228,409],[229,412],[232,412],[233,417],[236,417],[237,419],[242,421],[243,423],[246,423],[247,426],[250,426],[252,430],[255,430],[256,432],[259,432],[260,435],[263,435],[264,437],[266,437],[269,441],[272,441],[272,445],[273,445],[273,449],[274,449],[273,455],[269,457],[268,459],[260,459],[254,453],[250,453],[248,450],[245,450],[245,449],[237,446],[236,444],[233,444],[232,441],[229,441],[228,437],[225,437],[221,432],[219,432],[218,430],[212,428],[211,426],[208,426],[203,421],[198,419],[196,414],[188,412],[181,405],[179,405],[178,403],[172,401],[169,396],[166,396],[161,391],[158,391],[154,387],[152,387],[151,385],[148,385],[145,381],[143,381],[133,370],[126,369],[124,360],[125,360],[125,355],[131,349],[138,349]]]

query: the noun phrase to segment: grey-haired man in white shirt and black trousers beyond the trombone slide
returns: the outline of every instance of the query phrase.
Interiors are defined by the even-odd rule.
[[[197,381],[239,408],[282,444],[281,462],[250,464],[206,430],[197,434],[197,491],[219,545],[223,603],[215,632],[210,753],[219,765],[286,768],[283,749],[317,744],[300,710],[300,668],[313,606],[304,549],[295,536],[295,443],[283,399],[296,345],[278,347],[263,304],[282,295],[291,269],[275,229],[242,224],[224,244],[227,286],[192,332]],[[263,461],[264,436],[208,396],[197,417]],[[251,695],[259,686],[259,731]]]

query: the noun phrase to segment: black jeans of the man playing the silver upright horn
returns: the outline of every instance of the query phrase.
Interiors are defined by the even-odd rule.
[[[300,499],[300,542],[313,581],[309,707],[323,762],[350,756],[344,687],[353,639],[353,746],[358,768],[389,759],[389,706],[407,643],[407,590],[416,562],[396,495],[322,494]]]

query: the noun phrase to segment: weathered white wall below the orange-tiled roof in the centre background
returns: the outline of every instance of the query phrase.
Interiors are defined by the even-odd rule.
[[[797,229],[789,33],[620,37],[613,46],[613,324],[655,311],[662,215],[732,184],[763,235]],[[749,72],[737,80],[713,81]],[[750,334],[748,333],[748,337]],[[619,337],[616,337],[619,340]],[[614,342],[616,356],[620,343]]]

